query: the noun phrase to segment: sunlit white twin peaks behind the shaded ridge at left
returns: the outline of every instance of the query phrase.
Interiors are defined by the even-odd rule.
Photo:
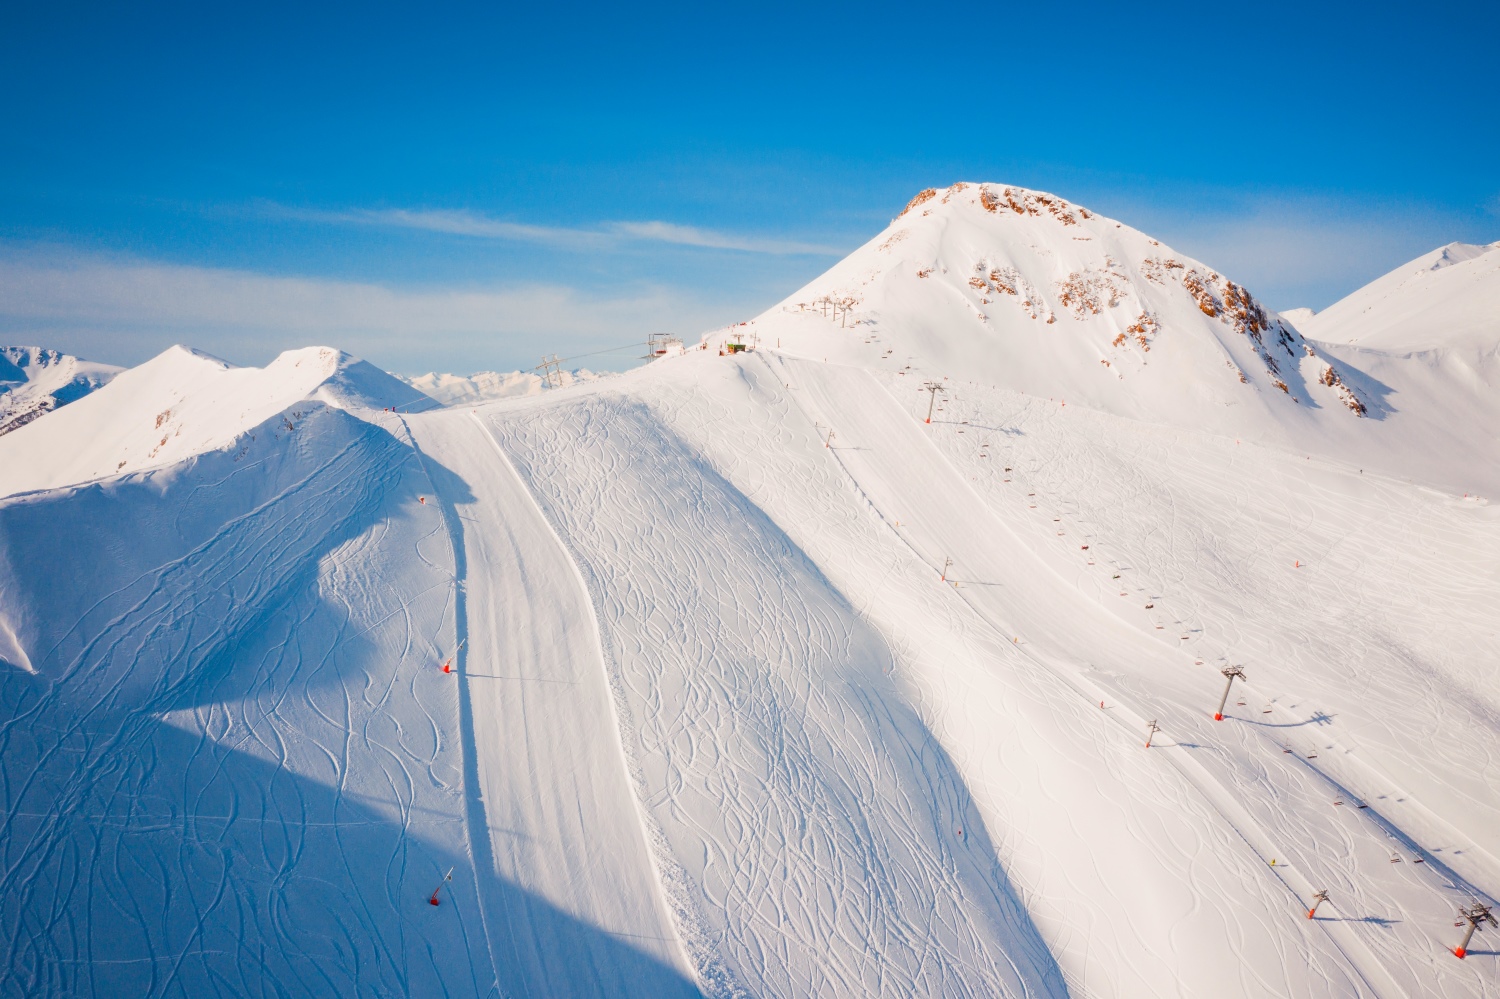
[[[108,386],[0,441],[0,495],[51,489],[168,465],[237,444],[297,404],[428,410],[436,402],[381,369],[327,346],[286,351],[266,368],[236,368],[172,346]]]

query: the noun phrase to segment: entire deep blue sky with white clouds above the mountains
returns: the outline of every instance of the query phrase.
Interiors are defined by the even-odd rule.
[[[1323,308],[1500,238],[1497,10],[9,3],[0,339],[530,368],[747,318],[958,178]]]

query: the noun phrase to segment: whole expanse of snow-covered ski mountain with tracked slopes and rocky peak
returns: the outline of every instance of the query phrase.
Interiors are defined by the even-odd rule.
[[[1496,994],[1467,375],[1305,333],[962,184],[604,381],[120,375],[0,440],[0,994]]]

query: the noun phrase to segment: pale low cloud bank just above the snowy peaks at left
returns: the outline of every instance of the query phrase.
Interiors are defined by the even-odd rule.
[[[754,308],[670,286],[399,286],[0,246],[0,340],[116,363],[172,342],[242,363],[327,344],[404,372],[530,368],[652,332],[690,338]]]

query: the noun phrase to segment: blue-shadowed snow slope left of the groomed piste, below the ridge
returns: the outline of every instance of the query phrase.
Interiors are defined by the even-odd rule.
[[[0,500],[0,994],[494,981],[506,888],[466,862],[434,666],[453,562],[400,417],[369,418],[309,402],[242,460]]]

